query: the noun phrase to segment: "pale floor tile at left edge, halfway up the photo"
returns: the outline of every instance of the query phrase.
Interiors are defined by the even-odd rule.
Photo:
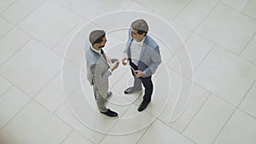
[[[32,40],[1,66],[0,74],[34,96],[61,71],[61,61],[59,55]]]

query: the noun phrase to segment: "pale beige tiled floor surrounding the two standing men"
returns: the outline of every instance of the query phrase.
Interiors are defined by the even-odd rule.
[[[153,101],[127,66],[96,111],[86,80],[88,33],[105,29],[122,58],[131,21],[148,21],[163,62]],[[256,143],[256,0],[1,0],[0,144]]]

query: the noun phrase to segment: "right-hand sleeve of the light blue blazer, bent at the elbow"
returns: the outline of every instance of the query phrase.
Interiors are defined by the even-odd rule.
[[[143,71],[146,74],[146,76],[144,76],[144,77],[148,77],[148,76],[154,74],[157,67],[161,63],[161,56],[160,56],[159,46],[157,45],[156,48],[153,51],[154,52],[152,52],[151,55],[150,55],[150,59],[152,60],[152,63]]]

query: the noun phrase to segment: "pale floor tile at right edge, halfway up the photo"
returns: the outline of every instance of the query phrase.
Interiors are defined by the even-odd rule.
[[[238,105],[256,77],[253,64],[215,46],[195,70],[193,81]]]

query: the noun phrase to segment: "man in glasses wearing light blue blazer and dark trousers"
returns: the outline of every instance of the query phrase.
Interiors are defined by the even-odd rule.
[[[131,74],[134,76],[132,87],[125,89],[125,94],[131,94],[145,88],[143,102],[138,107],[138,111],[143,111],[148,107],[153,93],[152,75],[160,65],[161,56],[157,43],[147,35],[148,24],[145,20],[139,19],[131,23],[129,38],[125,47],[123,65],[129,63]]]

